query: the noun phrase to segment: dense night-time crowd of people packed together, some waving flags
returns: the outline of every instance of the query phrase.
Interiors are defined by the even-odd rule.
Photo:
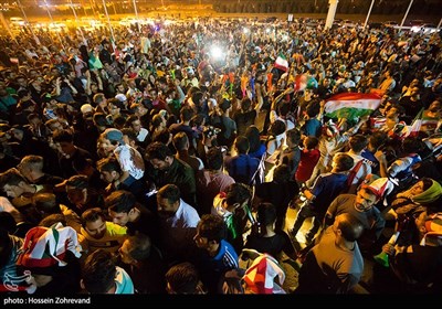
[[[441,290],[440,33],[201,19],[1,41],[2,291]],[[379,106],[335,118],[341,94]]]

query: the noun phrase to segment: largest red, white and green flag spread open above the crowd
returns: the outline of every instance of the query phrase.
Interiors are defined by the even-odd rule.
[[[376,94],[345,93],[327,99],[324,114],[329,118],[354,120],[370,115],[380,105],[381,97]]]

